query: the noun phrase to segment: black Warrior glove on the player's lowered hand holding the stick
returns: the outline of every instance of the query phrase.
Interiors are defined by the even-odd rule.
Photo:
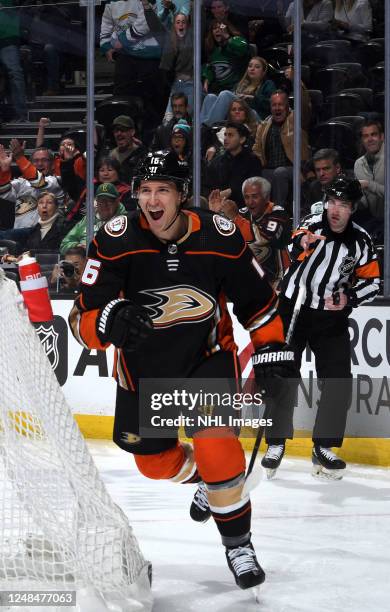
[[[287,344],[275,342],[257,349],[252,365],[260,391],[271,397],[285,392],[283,379],[299,378],[294,351]]]

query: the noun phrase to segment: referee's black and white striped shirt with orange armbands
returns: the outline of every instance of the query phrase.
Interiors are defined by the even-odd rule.
[[[300,241],[307,232],[326,240],[313,243],[304,253]],[[324,310],[325,298],[338,289],[347,294],[351,307],[373,300],[378,293],[379,266],[372,240],[352,221],[337,234],[330,229],[326,212],[309,215],[293,233],[288,250],[292,264],[283,277],[281,293],[294,302],[302,285],[306,289],[303,304],[317,310]]]

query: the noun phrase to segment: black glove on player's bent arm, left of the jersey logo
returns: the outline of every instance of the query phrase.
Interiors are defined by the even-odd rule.
[[[153,323],[146,308],[130,300],[112,300],[101,309],[97,319],[99,340],[128,351],[135,351],[152,330]]]

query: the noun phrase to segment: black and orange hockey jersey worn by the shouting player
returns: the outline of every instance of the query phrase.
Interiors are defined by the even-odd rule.
[[[146,307],[153,321],[139,350],[117,351],[114,374],[123,388],[133,389],[140,378],[188,377],[211,353],[235,351],[226,298],[255,346],[284,340],[276,295],[236,226],[219,215],[184,214],[188,231],[177,242],[158,240],[135,213],[109,221],[89,248],[70,315],[76,339],[106,348],[96,320],[118,296]]]

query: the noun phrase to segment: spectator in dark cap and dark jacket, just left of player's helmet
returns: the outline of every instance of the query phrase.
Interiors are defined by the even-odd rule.
[[[112,133],[116,147],[110,151],[110,157],[120,163],[120,177],[125,183],[131,183],[134,169],[140,159],[147,153],[146,147],[135,137],[134,121],[128,115],[119,115],[112,122]]]

